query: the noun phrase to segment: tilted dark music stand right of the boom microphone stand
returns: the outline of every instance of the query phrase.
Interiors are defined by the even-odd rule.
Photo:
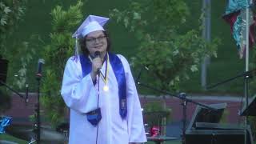
[[[216,110],[209,110],[206,107],[199,105],[196,107],[194,115],[191,118],[190,125],[186,130],[195,128],[197,122],[218,123],[220,121],[226,108],[226,103],[210,104],[209,106],[215,108]]]

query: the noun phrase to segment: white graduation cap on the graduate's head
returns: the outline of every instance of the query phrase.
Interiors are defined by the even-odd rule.
[[[72,38],[83,38],[86,34],[96,30],[104,30],[103,26],[110,18],[104,18],[96,15],[89,15],[78,30],[74,32]]]

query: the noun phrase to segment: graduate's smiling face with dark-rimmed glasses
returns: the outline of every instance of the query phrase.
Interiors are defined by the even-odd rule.
[[[86,47],[91,55],[94,55],[95,51],[106,53],[107,41],[106,35],[102,30],[90,32],[86,36]]]

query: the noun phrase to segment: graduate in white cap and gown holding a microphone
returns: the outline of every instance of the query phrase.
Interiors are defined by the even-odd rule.
[[[102,27],[108,20],[90,15],[73,34],[82,54],[66,62],[61,92],[70,107],[70,144],[146,142],[129,63],[109,51],[110,39]]]

